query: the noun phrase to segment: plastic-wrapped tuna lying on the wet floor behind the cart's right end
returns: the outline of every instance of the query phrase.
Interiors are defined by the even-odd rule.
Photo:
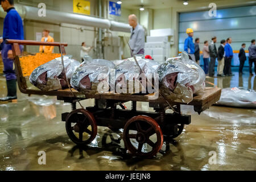
[[[256,92],[254,90],[245,90],[239,88],[225,88],[221,90],[218,105],[233,107],[256,108]]]

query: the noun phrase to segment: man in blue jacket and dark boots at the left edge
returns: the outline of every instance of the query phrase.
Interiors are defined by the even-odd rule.
[[[9,101],[17,98],[16,96],[16,75],[13,67],[13,51],[10,44],[5,44],[6,39],[23,40],[23,24],[18,12],[14,8],[14,0],[1,0],[1,6],[7,12],[3,22],[3,49],[2,59],[6,76],[7,97],[0,98],[0,101]],[[20,46],[22,51],[22,46]]]

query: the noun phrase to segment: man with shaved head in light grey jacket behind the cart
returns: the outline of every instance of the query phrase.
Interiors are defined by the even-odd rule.
[[[131,36],[129,44],[131,51],[134,55],[144,55],[144,46],[145,46],[145,33],[144,29],[137,22],[137,16],[132,14],[128,17],[129,24],[131,26]]]

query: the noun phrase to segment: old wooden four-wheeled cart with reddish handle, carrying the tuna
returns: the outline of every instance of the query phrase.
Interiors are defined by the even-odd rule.
[[[69,138],[76,144],[89,144],[97,135],[97,126],[109,127],[113,131],[123,129],[123,141],[125,147],[132,154],[137,156],[154,156],[162,148],[163,141],[170,141],[176,138],[183,131],[184,125],[191,123],[191,115],[184,115],[180,112],[179,102],[171,102],[177,113],[168,114],[166,110],[169,105],[163,97],[159,96],[156,100],[148,99],[152,94],[131,94],[123,95],[118,93],[104,94],[82,94],[73,89],[42,91],[36,88],[28,88],[26,77],[23,76],[20,66],[19,45],[37,46],[58,46],[65,53],[67,44],[35,42],[28,40],[6,40],[13,47],[16,75],[20,92],[26,94],[38,94],[57,96],[58,100],[70,102],[72,111],[62,113],[62,121],[65,122]],[[206,88],[188,105],[193,105],[194,110],[199,114],[208,109],[220,99],[220,88]],[[77,100],[94,98],[94,106],[85,109],[76,109]],[[131,110],[127,110],[122,103],[131,101]],[[137,102],[148,102],[154,112],[137,110]],[[117,107],[121,106],[121,109]],[[152,136],[155,136],[152,138]],[[153,141],[153,139],[155,141]],[[147,148],[145,151],[144,148]]]

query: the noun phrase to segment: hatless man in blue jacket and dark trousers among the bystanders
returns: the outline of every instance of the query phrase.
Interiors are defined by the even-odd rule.
[[[232,43],[232,38],[226,39],[225,49],[225,64],[224,64],[224,75],[225,76],[234,76],[231,72],[231,61],[233,58],[233,49],[230,46]]]

